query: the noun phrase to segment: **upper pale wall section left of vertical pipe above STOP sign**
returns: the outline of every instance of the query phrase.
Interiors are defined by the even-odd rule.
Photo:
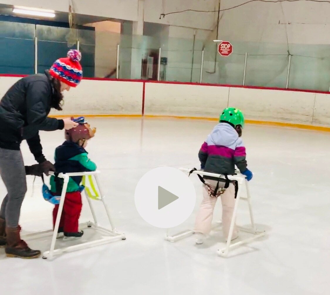
[[[163,13],[163,2],[165,12],[173,12],[183,9],[214,10],[217,0],[144,0],[144,21],[168,25],[210,29],[214,25],[215,13],[208,13],[202,17],[197,13],[185,13],[169,15],[159,19]],[[1,0],[0,3],[7,5],[21,5],[35,8],[52,9],[67,12],[68,0],[44,1],[44,0]],[[109,17],[123,20],[138,21],[138,0],[93,0],[74,1],[76,13]]]

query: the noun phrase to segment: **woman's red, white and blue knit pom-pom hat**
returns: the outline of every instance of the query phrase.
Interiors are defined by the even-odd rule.
[[[71,49],[67,57],[59,58],[54,62],[49,74],[71,87],[76,87],[82,79],[82,66],[79,63],[81,59],[80,51]]]

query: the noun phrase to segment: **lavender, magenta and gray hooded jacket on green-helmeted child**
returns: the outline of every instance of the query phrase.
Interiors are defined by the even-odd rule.
[[[208,135],[199,153],[201,168],[219,174],[234,174],[235,165],[244,172],[247,169],[246,152],[242,139],[227,123],[219,123]],[[205,177],[212,178],[212,177]]]

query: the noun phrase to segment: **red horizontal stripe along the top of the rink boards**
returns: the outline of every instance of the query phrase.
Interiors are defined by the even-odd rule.
[[[26,77],[28,75],[14,75],[14,74],[0,74],[0,77]],[[294,92],[311,92],[330,94],[329,91],[309,90],[309,89],[286,89],[278,87],[260,87],[260,86],[241,86],[230,84],[208,84],[208,83],[193,83],[193,82],[178,82],[178,81],[150,81],[150,80],[129,80],[129,79],[112,79],[112,78],[82,78],[82,80],[95,81],[118,81],[118,82],[140,82],[140,83],[159,83],[159,84],[180,84],[180,85],[196,85],[196,86],[216,86],[228,88],[244,88],[244,89],[260,89],[260,90],[280,90],[280,91],[294,91]]]

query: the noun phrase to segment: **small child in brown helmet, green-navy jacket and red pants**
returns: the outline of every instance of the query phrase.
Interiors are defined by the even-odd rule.
[[[73,118],[72,118],[73,119]],[[79,118],[80,124],[70,130],[65,130],[66,141],[55,150],[55,169],[57,173],[95,171],[96,164],[87,156],[85,147],[90,138],[94,137],[96,128],[90,128],[83,117]],[[74,119],[73,119],[74,120]],[[77,121],[77,120],[75,120]],[[65,237],[81,237],[83,231],[79,231],[79,217],[82,210],[82,197],[80,183],[82,176],[70,177],[64,199],[63,211],[58,228],[59,233]],[[53,195],[60,196],[63,187],[63,179],[55,176],[50,178],[50,191]],[[58,206],[53,210],[53,225],[55,226]]]

